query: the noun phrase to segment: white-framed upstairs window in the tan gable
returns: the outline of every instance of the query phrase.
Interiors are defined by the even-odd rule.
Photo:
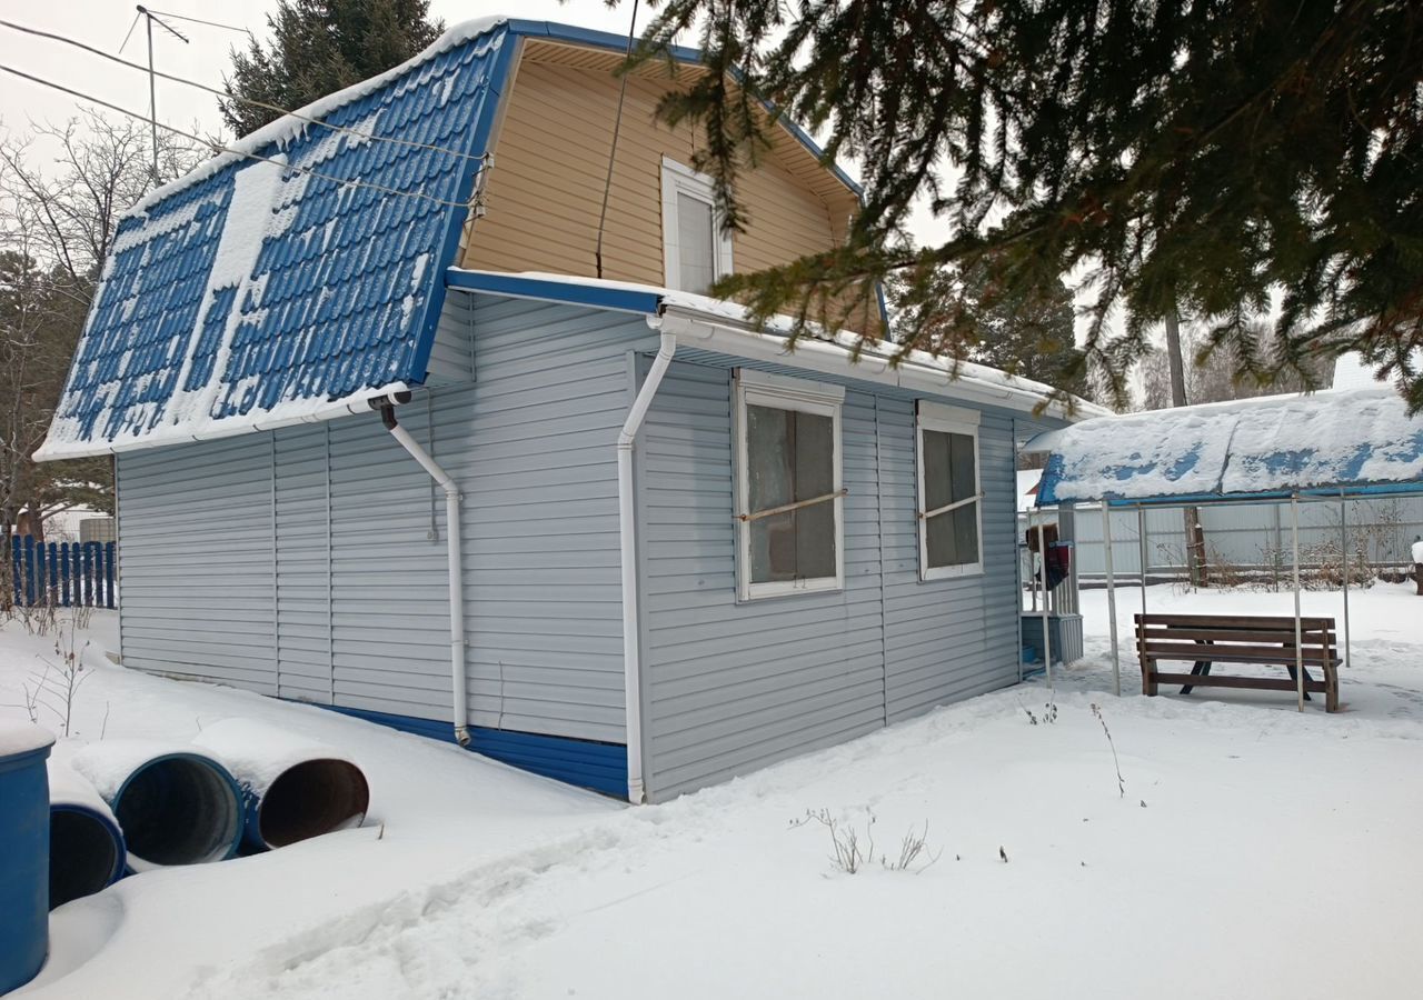
[[[731,235],[712,193],[712,178],[662,161],[662,242],[669,289],[704,294],[712,282],[731,273]]]

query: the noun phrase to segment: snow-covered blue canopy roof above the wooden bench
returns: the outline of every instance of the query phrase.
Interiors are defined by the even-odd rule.
[[[1423,494],[1423,415],[1392,388],[1271,395],[1040,434],[1039,506]]]

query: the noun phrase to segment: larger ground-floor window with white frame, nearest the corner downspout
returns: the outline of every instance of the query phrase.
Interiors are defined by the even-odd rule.
[[[741,600],[844,583],[844,486],[835,385],[736,378],[737,579]]]

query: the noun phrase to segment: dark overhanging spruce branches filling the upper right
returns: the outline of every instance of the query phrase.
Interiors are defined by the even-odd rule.
[[[1416,0],[667,0],[636,58],[679,33],[713,71],[659,114],[702,127],[729,225],[760,98],[865,175],[842,246],[717,286],[757,316],[895,272],[929,304],[942,269],[992,257],[1015,289],[1090,292],[1084,351],[1118,400],[1175,307],[1244,380],[1359,350],[1423,408]],[[936,246],[905,236],[921,199],[952,226]]]

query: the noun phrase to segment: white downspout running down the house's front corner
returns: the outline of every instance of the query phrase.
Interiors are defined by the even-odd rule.
[[[638,644],[638,521],[632,492],[632,445],[676,350],[676,336],[663,330],[657,357],[653,358],[647,378],[638,390],[632,408],[628,410],[628,420],[618,434],[618,541],[622,563],[623,684],[628,700],[628,801],[633,804],[645,802],[647,795],[642,780],[642,660]]]

